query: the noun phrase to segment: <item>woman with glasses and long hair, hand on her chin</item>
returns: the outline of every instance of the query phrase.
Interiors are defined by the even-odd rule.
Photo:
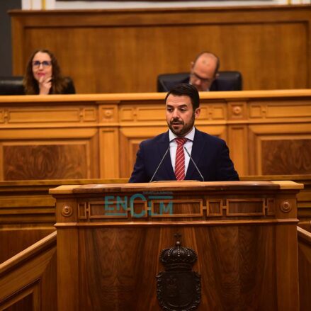
[[[75,94],[72,79],[63,77],[55,56],[49,50],[31,55],[23,79],[25,94]]]

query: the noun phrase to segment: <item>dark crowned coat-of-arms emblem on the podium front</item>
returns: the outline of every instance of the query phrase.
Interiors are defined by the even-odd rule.
[[[196,251],[182,247],[179,237],[175,247],[162,249],[159,260],[165,271],[157,275],[157,298],[166,311],[196,310],[200,303],[200,275],[192,271],[198,256]]]

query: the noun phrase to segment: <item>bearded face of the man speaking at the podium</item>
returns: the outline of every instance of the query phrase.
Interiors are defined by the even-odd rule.
[[[170,94],[166,99],[166,122],[176,136],[183,137],[191,131],[194,120],[200,115],[200,108],[193,111],[189,96]]]

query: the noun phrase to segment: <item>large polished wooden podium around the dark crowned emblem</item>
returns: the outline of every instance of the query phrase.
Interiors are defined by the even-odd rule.
[[[51,189],[58,310],[161,310],[159,254],[175,246],[176,233],[198,256],[198,310],[299,310],[302,187],[185,181]]]

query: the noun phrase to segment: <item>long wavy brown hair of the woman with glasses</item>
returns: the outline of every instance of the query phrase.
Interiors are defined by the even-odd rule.
[[[51,57],[52,63],[52,86],[50,89],[50,94],[62,94],[62,91],[67,86],[67,80],[62,77],[60,71],[60,65],[58,64],[56,57],[49,50],[36,50],[30,56],[28,64],[26,67],[25,77],[23,79],[23,86],[25,88],[25,94],[39,94],[38,81],[33,77],[33,57],[38,52],[47,53]]]

